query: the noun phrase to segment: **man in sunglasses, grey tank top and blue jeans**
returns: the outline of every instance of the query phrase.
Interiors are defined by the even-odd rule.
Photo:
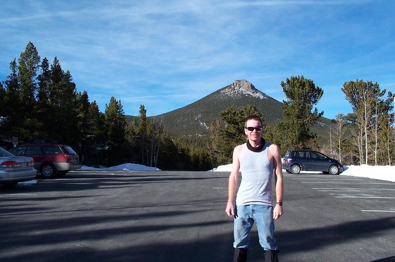
[[[274,238],[274,220],[282,214],[283,180],[278,146],[265,142],[262,136],[262,120],[250,115],[244,122],[247,142],[233,151],[233,165],[229,177],[226,213],[234,217],[234,262],[247,260],[247,248],[251,228],[256,222],[259,243],[264,249],[266,262],[278,261]],[[238,172],[241,183],[237,191]],[[272,183],[276,181],[276,206],[273,208]]]

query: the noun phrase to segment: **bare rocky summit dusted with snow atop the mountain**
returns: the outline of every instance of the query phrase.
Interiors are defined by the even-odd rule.
[[[232,98],[252,96],[260,99],[267,99],[267,96],[264,93],[256,89],[253,84],[245,79],[235,80],[231,85],[222,89],[220,94],[228,95]]]

